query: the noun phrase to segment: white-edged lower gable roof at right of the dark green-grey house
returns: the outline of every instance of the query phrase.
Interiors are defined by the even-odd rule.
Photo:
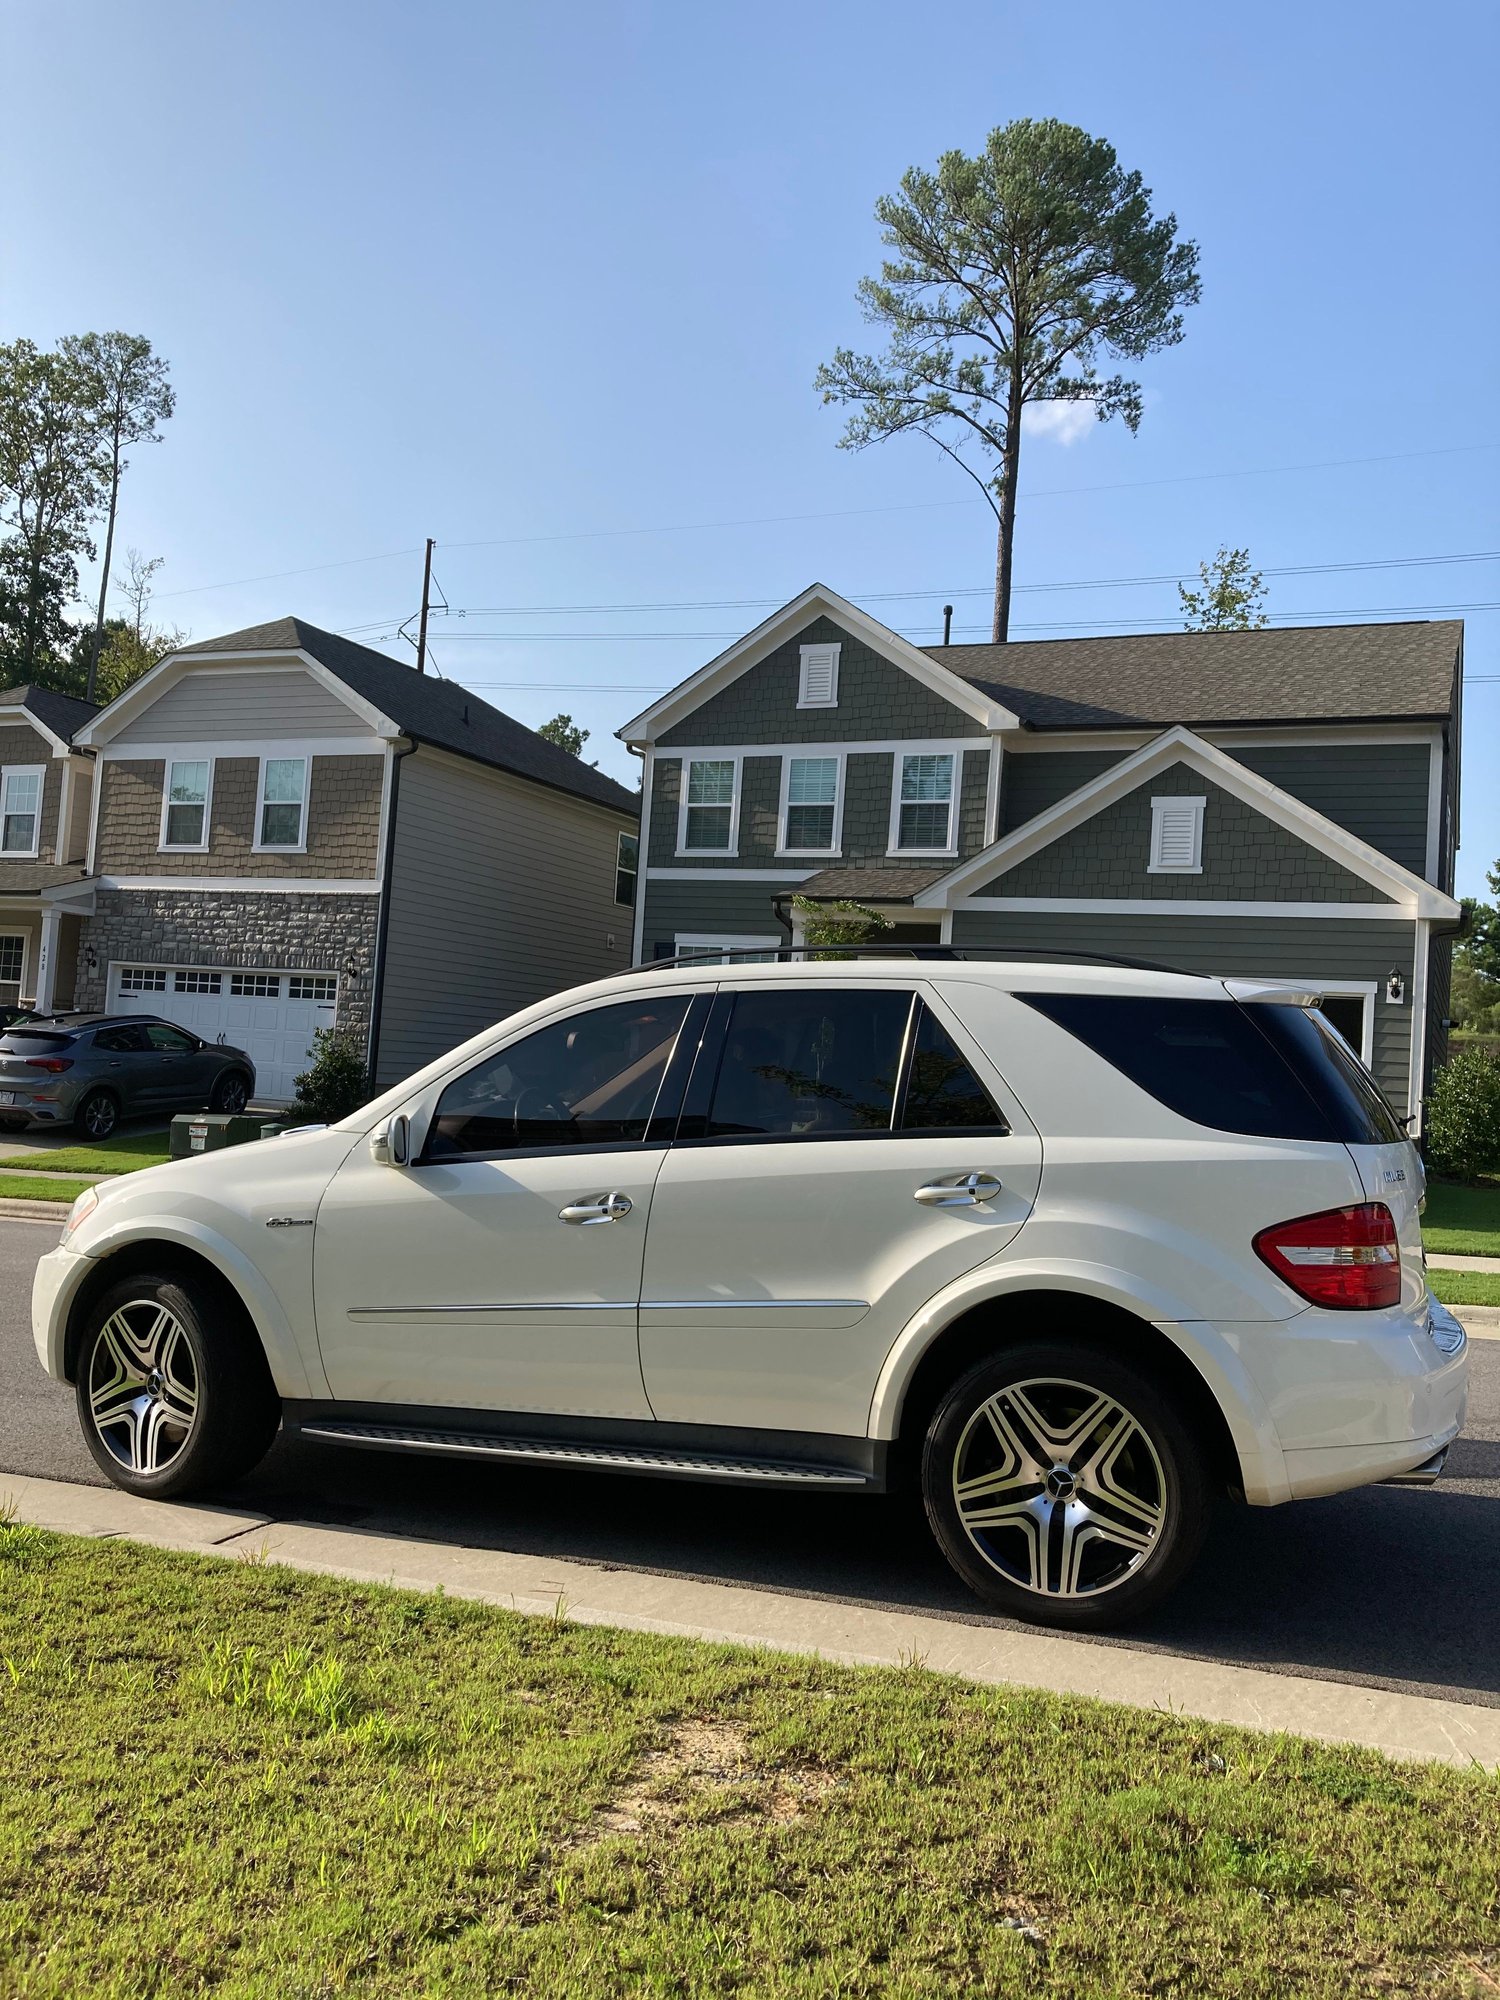
[[[1034,820],[1026,820],[1024,826],[1014,828],[1014,832],[1006,834],[1002,840],[990,842],[990,846],[972,856],[972,860],[950,868],[940,882],[934,882],[926,890],[918,890],[914,902],[920,908],[942,910],[960,902],[964,892],[976,894],[978,884],[1004,874],[1018,862],[1028,860],[1032,854],[1050,846],[1050,842],[1054,842],[1060,834],[1068,834],[1074,826],[1082,826],[1084,820],[1090,820],[1104,806],[1112,806],[1128,792],[1148,784],[1172,764],[1188,764],[1192,770],[1210,778],[1226,792],[1234,792],[1236,798],[1242,798],[1256,812],[1264,812],[1268,820],[1276,820],[1278,826],[1284,826],[1310,848],[1326,854],[1328,860],[1348,868],[1364,882],[1372,882],[1400,906],[1400,914],[1428,916],[1436,918],[1440,924],[1458,922],[1460,906],[1452,896],[1444,896],[1444,892],[1434,888],[1432,882],[1426,882],[1410,868],[1402,868],[1400,862],[1392,862],[1368,842],[1358,840],[1342,826],[1336,826],[1334,820],[1326,818],[1322,812],[1316,812],[1312,806],[1304,806],[1300,798],[1292,798],[1290,792],[1282,792],[1280,786],[1270,784],[1268,778],[1258,776],[1226,750],[1218,750],[1214,744],[1204,742],[1202,736],[1194,736],[1192,730],[1186,728],[1164,730],[1132,756],[1120,758],[1118,764],[1100,772],[1098,778],[1078,786],[1076,792],[1060,798],[1054,806],[1048,806],[1046,812],[1038,812]]]

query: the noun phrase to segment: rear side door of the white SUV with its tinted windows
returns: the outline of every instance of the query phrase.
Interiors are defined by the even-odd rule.
[[[646,1236],[654,1414],[862,1436],[896,1336],[1004,1250],[1040,1168],[928,986],[726,980]]]

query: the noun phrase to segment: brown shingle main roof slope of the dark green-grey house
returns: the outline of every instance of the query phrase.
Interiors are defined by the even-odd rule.
[[[1462,620],[1140,632],[924,646],[1026,728],[1436,722],[1452,714]]]

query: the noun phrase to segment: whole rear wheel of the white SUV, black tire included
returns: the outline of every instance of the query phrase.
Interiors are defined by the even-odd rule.
[[[1176,1402],[1072,1334],[1004,1348],[954,1382],[928,1424],[922,1500],[986,1604],[1074,1632],[1160,1604],[1210,1512],[1204,1454]]]

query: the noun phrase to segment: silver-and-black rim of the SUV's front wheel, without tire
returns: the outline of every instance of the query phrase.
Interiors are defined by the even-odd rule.
[[[198,1368],[182,1320],[158,1300],[132,1300],[100,1326],[88,1412],[128,1472],[166,1472],[186,1448],[198,1420]]]

